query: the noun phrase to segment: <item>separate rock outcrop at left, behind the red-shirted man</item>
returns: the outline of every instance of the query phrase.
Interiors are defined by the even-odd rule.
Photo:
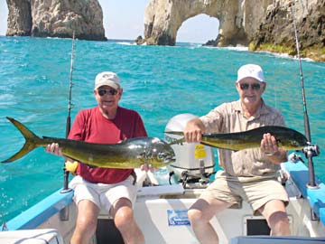
[[[6,35],[72,37],[105,41],[98,0],[7,0]]]

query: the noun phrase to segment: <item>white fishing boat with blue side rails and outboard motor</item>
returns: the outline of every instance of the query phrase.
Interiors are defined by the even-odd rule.
[[[188,115],[176,119],[181,117]],[[183,123],[178,125],[182,127]],[[190,229],[187,211],[209,181],[213,181],[206,176],[213,171],[214,155],[206,145],[175,145],[174,150],[178,165],[174,164],[169,171],[173,170],[177,179],[182,178],[181,183],[168,184],[164,180],[167,184],[143,186],[147,182],[160,183],[170,174],[167,170],[164,175],[136,170],[135,219],[144,232],[145,243],[199,243]],[[287,212],[292,237],[270,237],[264,217],[254,215],[243,202],[242,206],[222,211],[211,220],[220,243],[325,243],[324,183],[316,177],[316,185],[310,187],[310,171],[301,161],[283,163],[282,172],[285,177],[281,180],[290,196]],[[0,232],[0,243],[70,243],[77,216],[72,196],[72,191],[58,190],[6,222]],[[93,243],[123,243],[107,212],[99,214]]]

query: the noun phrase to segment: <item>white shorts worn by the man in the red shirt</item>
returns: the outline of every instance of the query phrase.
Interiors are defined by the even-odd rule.
[[[109,212],[111,206],[120,198],[126,198],[135,205],[136,186],[133,184],[134,177],[129,176],[120,183],[89,183],[79,175],[70,182],[70,187],[74,190],[73,200],[78,204],[81,200],[94,202],[99,209]]]

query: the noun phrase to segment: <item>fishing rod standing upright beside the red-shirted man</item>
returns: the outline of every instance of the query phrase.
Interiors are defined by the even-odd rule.
[[[74,49],[75,49],[75,32],[72,33],[72,47],[71,47],[71,59],[70,59],[70,87],[69,87],[69,104],[68,104],[68,116],[66,122],[66,138],[68,138],[71,128],[71,99],[72,99],[72,73],[73,73],[73,58],[74,58]],[[71,189],[68,187],[69,184],[69,171],[67,171],[64,167],[63,174],[63,189],[60,191],[61,193],[70,192]]]

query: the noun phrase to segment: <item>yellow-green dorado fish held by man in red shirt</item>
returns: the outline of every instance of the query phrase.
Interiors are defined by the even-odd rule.
[[[36,136],[22,123],[7,117],[24,136],[22,149],[2,163],[10,163],[28,154],[38,146],[58,143],[63,155],[83,164],[104,168],[136,168],[142,164],[152,164],[159,168],[172,164],[175,154],[171,145],[155,137],[135,137],[119,144],[93,144],[83,141]]]

